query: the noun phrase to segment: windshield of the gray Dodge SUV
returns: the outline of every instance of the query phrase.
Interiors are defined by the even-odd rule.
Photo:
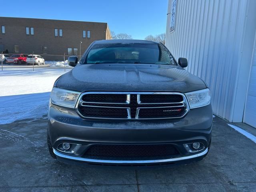
[[[97,43],[90,49],[84,64],[139,63],[176,65],[162,44],[156,43]]]

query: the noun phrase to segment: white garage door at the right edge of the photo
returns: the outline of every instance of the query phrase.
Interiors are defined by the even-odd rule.
[[[256,43],[254,44],[254,55],[244,112],[244,122],[256,128]]]

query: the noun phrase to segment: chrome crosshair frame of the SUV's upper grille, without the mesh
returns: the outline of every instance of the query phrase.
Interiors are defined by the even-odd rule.
[[[126,102],[86,102],[84,100],[82,100],[82,97],[85,94],[126,94],[127,96],[127,100]],[[136,115],[135,117],[131,116],[131,109],[129,107],[130,104],[130,96],[131,95],[136,94],[137,95],[137,109],[136,109]],[[165,102],[165,103],[142,103],[140,101],[140,95],[142,94],[176,94],[176,95],[180,95],[182,96],[183,100],[181,102]],[[115,104],[122,104],[122,105],[128,105],[127,107],[113,107],[113,106],[92,106],[92,105],[86,105],[86,104],[111,104],[111,105],[115,105]],[[154,107],[143,107],[142,105],[146,105],[146,104],[150,104],[150,105],[156,105]],[[157,106],[158,104],[170,104],[170,106]],[[172,106],[172,104],[180,104],[178,106]],[[141,106],[140,106],[141,105]],[[126,108],[127,109],[127,117],[126,118],[112,118],[112,117],[89,117],[89,116],[83,116],[78,108],[79,106],[85,106],[85,107],[100,107],[100,108]],[[154,117],[154,118],[140,118],[140,109],[146,109],[146,108],[174,108],[174,107],[184,107],[184,113],[182,114],[182,116],[178,116],[178,117]],[[145,120],[145,119],[179,119],[179,118],[183,118],[184,116],[186,116],[186,114],[188,114],[190,108],[189,108],[189,104],[188,104],[188,100],[185,96],[185,94],[182,94],[180,92],[84,92],[82,93],[79,98],[78,101],[76,103],[76,107],[75,107],[76,112],[82,117],[82,118],[88,118],[88,119],[118,119],[118,120]]]

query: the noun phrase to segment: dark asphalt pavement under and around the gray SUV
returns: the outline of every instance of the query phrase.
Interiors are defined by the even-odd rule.
[[[256,144],[218,117],[202,161],[146,170],[59,163],[48,153],[46,127],[46,116],[0,125],[0,191],[256,191]]]

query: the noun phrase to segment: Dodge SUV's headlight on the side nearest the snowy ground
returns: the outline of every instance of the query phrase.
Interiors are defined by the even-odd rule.
[[[76,101],[80,92],[60,89],[60,88],[52,88],[51,92],[51,102],[54,105],[67,107],[67,108],[75,108]]]

